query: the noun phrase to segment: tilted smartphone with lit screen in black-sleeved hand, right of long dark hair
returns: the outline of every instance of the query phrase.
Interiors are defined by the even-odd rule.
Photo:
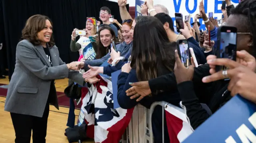
[[[188,40],[183,39],[183,40],[178,40],[177,41],[177,50],[178,54],[180,56],[180,60],[182,64],[187,68],[191,65],[191,53],[189,50],[189,45],[188,45]]]

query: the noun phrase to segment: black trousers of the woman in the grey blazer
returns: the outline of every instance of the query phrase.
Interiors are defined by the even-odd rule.
[[[11,113],[12,124],[15,130],[15,143],[30,143],[33,131],[33,143],[45,143],[49,104],[46,104],[43,117]]]

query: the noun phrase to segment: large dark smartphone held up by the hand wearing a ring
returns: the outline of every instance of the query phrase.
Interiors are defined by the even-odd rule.
[[[228,58],[236,61],[236,27],[220,26],[218,28],[217,58]],[[216,66],[216,71],[226,70],[227,67]]]

